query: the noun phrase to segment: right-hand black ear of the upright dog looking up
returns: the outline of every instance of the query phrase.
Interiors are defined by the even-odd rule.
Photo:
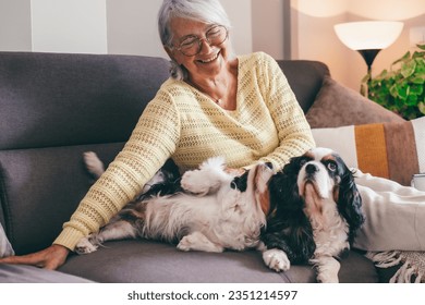
[[[344,166],[341,182],[339,184],[338,209],[350,225],[350,243],[352,243],[355,231],[365,221],[362,211],[362,196],[354,182],[352,171]]]

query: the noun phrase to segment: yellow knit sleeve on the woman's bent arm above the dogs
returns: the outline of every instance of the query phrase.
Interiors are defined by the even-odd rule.
[[[260,158],[277,169],[289,159],[303,155],[315,146],[309,124],[301,109],[287,77],[270,56],[260,53],[263,96],[268,105],[279,137],[279,146],[268,156]]]

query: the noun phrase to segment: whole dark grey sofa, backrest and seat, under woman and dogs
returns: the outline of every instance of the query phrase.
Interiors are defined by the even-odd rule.
[[[327,66],[279,61],[306,112]],[[0,52],[0,222],[16,254],[47,247],[92,184],[82,154],[110,162],[168,77],[161,58]],[[378,282],[362,253],[342,259],[341,282]],[[71,255],[58,271],[0,266],[2,282],[314,282],[311,266],[269,270],[259,253],[183,253],[118,241]]]

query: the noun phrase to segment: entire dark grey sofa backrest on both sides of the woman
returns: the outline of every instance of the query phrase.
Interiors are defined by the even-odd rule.
[[[327,66],[279,64],[306,111]],[[0,222],[17,254],[51,244],[93,182],[82,154],[113,160],[168,75],[161,58],[0,52]]]

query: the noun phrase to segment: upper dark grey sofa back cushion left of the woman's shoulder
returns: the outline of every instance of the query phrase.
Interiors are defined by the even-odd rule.
[[[0,53],[0,149],[127,141],[169,76],[162,58]]]

